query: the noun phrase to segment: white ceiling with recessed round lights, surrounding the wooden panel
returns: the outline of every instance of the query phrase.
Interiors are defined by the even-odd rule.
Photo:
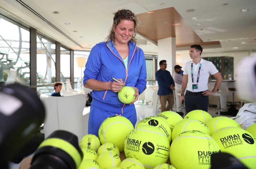
[[[19,1],[36,11],[73,41],[29,11]],[[74,50],[90,50],[95,44],[104,41],[113,23],[113,13],[118,9],[127,8],[139,14],[169,7],[174,7],[204,42],[220,41],[222,48],[206,49],[207,52],[256,50],[256,0],[0,0],[0,6]],[[195,11],[186,12],[190,9]],[[242,9],[249,11],[241,12]],[[60,13],[53,14],[53,11]],[[192,17],[198,19],[192,20]],[[145,41],[140,35],[137,38]],[[157,54],[157,45],[149,40],[147,45],[140,47],[145,53]],[[237,48],[233,49],[235,47]]]

